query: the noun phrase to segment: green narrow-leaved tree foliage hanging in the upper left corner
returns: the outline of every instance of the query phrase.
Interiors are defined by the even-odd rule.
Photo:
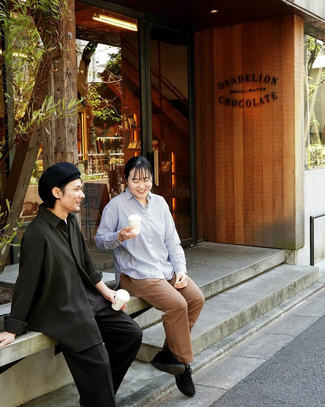
[[[10,5],[10,9],[9,9]],[[75,114],[78,102],[46,95],[51,63],[62,50],[62,21],[69,18],[65,0],[0,0],[0,20],[5,49],[0,55],[2,88],[6,89],[4,110],[9,139],[0,149],[0,164],[9,151],[32,131],[51,120]]]

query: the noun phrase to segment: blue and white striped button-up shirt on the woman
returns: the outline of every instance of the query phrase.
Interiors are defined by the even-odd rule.
[[[105,206],[95,236],[100,249],[113,249],[116,282],[124,273],[132,278],[161,278],[170,280],[174,271],[186,272],[184,250],[175,223],[163,197],[149,192],[145,208],[129,188]],[[141,216],[140,233],[119,241],[119,231],[129,225],[128,217]]]

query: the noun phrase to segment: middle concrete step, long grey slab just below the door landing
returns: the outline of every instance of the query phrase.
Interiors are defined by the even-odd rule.
[[[318,267],[283,264],[209,298],[192,330],[194,354],[267,313],[318,278]],[[137,359],[150,361],[163,346],[164,339],[162,322],[145,328]]]

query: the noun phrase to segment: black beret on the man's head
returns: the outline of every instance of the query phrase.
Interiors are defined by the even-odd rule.
[[[38,195],[42,201],[50,197],[52,188],[60,188],[68,182],[80,178],[80,171],[70,162],[58,162],[43,172],[38,182]]]

